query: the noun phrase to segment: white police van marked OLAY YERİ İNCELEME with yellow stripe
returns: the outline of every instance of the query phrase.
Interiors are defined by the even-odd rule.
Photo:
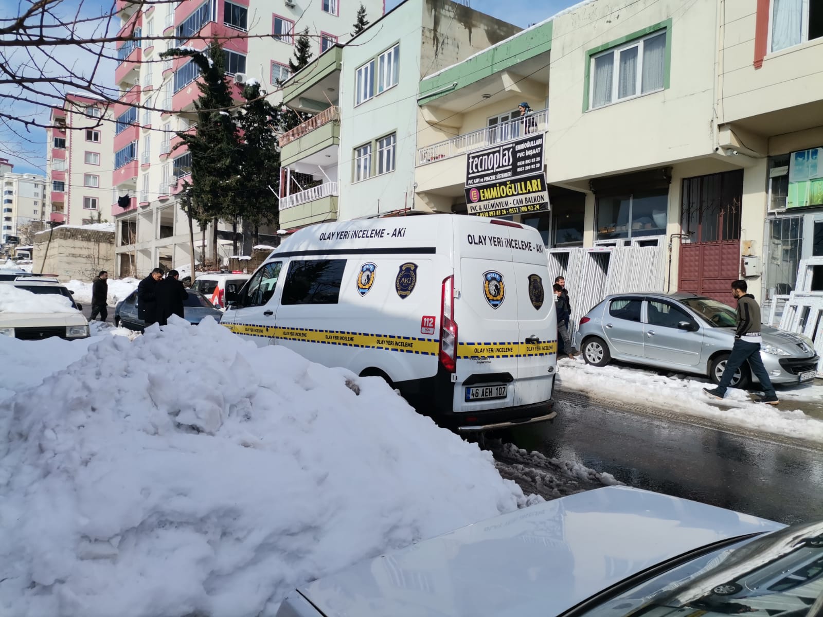
[[[379,375],[450,428],[554,417],[557,324],[537,230],[428,215],[298,230],[221,323],[259,345]]]

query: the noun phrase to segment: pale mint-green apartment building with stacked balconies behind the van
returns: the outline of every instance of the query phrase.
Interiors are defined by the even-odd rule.
[[[314,115],[281,137],[280,226],[412,211],[421,76],[520,28],[458,2],[406,0],[286,81]]]

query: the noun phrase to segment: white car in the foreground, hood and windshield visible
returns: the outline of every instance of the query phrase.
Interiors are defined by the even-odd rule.
[[[764,564],[798,571],[797,546],[821,532],[823,522],[784,527],[611,486],[365,559],[293,591],[277,617],[819,617],[820,578],[733,598],[713,590]]]

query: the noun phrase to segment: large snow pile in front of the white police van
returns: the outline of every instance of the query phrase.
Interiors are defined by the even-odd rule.
[[[360,559],[533,503],[380,378],[211,318],[106,337],[0,407],[0,614],[274,615]]]

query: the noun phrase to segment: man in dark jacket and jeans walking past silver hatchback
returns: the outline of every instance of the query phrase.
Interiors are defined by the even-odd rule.
[[[747,289],[746,281],[732,283],[732,296],[737,299],[737,330],[734,333],[732,353],[726,360],[726,368],[723,369],[723,377],[720,378],[718,387],[714,389],[704,387],[703,389],[711,397],[725,397],[734,373],[748,360],[751,372],[760,382],[765,395],[757,402],[777,405],[779,403],[777,392],[774,392],[769,373],[766,372],[763,360],[760,359],[760,305],[757,304],[755,296],[746,294]]]

